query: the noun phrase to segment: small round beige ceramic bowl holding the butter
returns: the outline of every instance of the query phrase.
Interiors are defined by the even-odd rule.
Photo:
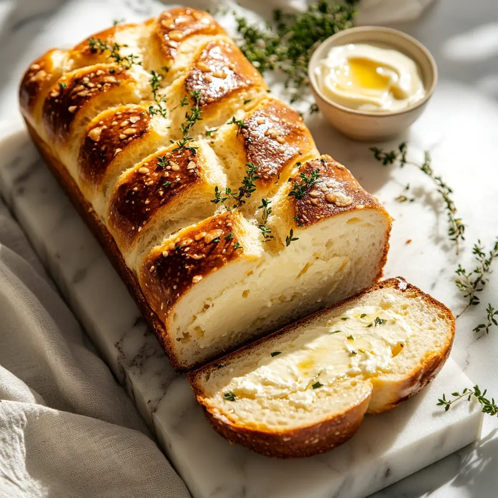
[[[348,43],[372,43],[383,48],[392,48],[410,57],[417,65],[425,87],[424,99],[399,111],[374,113],[358,111],[336,104],[320,91],[315,69],[329,50]],[[359,26],[336,33],[326,40],[313,53],[308,75],[316,103],[322,114],[339,131],[355,140],[381,141],[402,133],[422,114],[427,102],[434,93],[437,83],[437,66],[427,48],[411,36],[396,29],[380,26]]]

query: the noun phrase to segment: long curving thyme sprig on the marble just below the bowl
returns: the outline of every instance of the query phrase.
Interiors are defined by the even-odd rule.
[[[406,158],[407,153],[407,144],[406,142],[402,142],[399,144],[397,150],[391,150],[389,152],[384,152],[382,149],[378,147],[371,147],[370,150],[373,151],[373,157],[377,161],[380,161],[384,166],[388,164],[393,164],[394,162],[398,162],[399,166],[402,168],[405,164],[411,164],[419,168],[423,173],[425,173],[432,181],[436,184],[437,191],[441,194],[443,201],[446,205],[446,213],[448,217],[448,237],[450,241],[454,242],[456,245],[457,254],[460,252],[460,241],[464,241],[464,233],[465,233],[465,225],[462,222],[461,218],[456,217],[457,208],[455,207],[455,203],[451,198],[451,194],[453,190],[442,180],[440,176],[436,176],[434,170],[431,166],[431,155],[428,150],[424,151],[424,161],[422,164],[418,164],[413,161],[409,161]],[[405,196],[398,196],[396,200],[404,202],[408,199]]]

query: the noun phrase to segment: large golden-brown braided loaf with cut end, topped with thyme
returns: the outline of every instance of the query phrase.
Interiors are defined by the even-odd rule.
[[[47,52],[20,106],[179,370],[382,274],[388,214],[206,12]]]

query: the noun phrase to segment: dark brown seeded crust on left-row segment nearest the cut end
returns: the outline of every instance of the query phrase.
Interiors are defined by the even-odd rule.
[[[139,282],[150,307],[166,323],[173,305],[204,277],[245,250],[239,247],[240,213],[222,213],[182,230],[147,256]]]

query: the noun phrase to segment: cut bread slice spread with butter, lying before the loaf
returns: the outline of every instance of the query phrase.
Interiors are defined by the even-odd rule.
[[[213,427],[267,456],[322,453],[422,389],[449,356],[451,311],[391,278],[189,374]]]

